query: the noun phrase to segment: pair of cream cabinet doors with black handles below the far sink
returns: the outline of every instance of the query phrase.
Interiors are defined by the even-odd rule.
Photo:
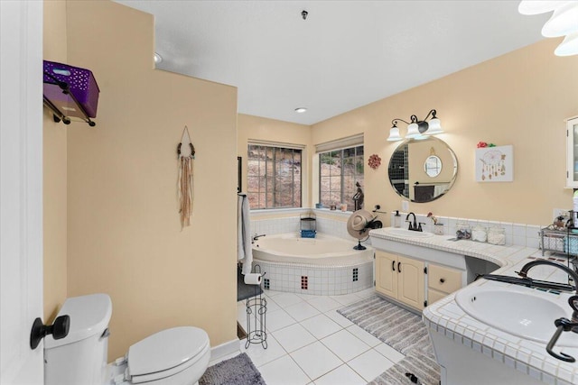
[[[424,267],[423,261],[377,250],[376,290],[407,306],[423,310]]]

